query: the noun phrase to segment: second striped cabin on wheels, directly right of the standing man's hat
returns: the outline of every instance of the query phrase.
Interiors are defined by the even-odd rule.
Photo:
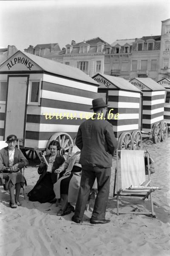
[[[109,105],[107,120],[113,125],[119,149],[139,149],[142,145],[141,90],[116,76],[96,74],[93,79],[100,84],[98,95]]]

